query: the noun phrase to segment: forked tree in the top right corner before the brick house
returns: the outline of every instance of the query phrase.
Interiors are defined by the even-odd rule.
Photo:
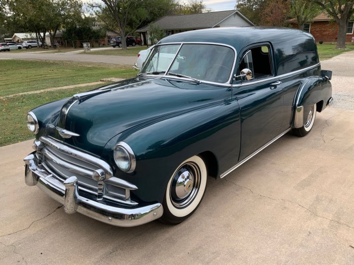
[[[325,10],[338,24],[337,49],[345,49],[346,28],[354,14],[354,0],[308,0]]]

